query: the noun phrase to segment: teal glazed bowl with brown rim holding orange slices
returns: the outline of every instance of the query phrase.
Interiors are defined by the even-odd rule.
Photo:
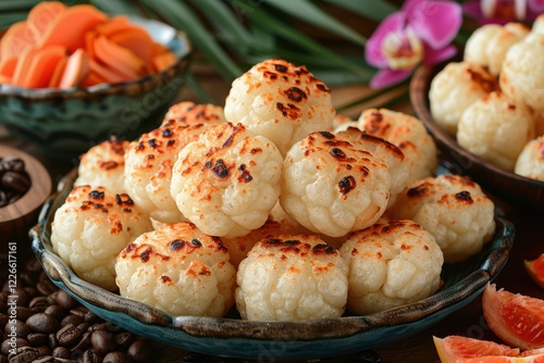
[[[131,16],[176,62],[145,77],[88,88],[32,89],[0,84],[0,124],[49,157],[78,157],[116,136],[132,139],[152,129],[185,84],[191,48],[185,34],[154,20]]]

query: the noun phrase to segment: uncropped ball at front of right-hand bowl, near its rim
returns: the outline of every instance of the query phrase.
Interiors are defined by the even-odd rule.
[[[523,147],[534,137],[530,110],[500,91],[469,105],[459,120],[457,142],[505,171],[514,171]]]

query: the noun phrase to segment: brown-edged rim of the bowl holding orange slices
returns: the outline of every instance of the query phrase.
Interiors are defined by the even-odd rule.
[[[193,45],[187,37],[187,35],[180,30],[174,28],[173,26],[153,20],[153,18],[147,18],[144,16],[138,16],[138,15],[127,15],[127,18],[129,22],[133,22],[137,25],[140,25],[145,27],[144,24],[148,25],[157,25],[160,27],[163,27],[165,29],[169,29],[172,32],[173,36],[169,40],[169,42],[163,43],[164,46],[169,46],[170,41],[173,39],[178,39],[183,42],[183,52],[181,54],[176,54],[176,61],[174,64],[169,66],[168,68],[161,71],[161,72],[156,72],[156,73],[149,73],[146,74],[143,77],[136,78],[136,79],[129,79],[129,80],[123,80],[123,82],[118,82],[118,83],[112,83],[112,84],[98,84],[94,85],[90,87],[71,87],[71,88],[26,88],[26,87],[20,87],[20,86],[13,86],[13,85],[7,85],[7,84],[0,84],[0,97],[20,97],[20,98],[25,98],[25,99],[30,99],[30,100],[41,100],[41,99],[48,99],[48,98],[64,98],[64,99],[70,99],[70,98],[82,98],[85,96],[99,96],[102,93],[111,93],[111,92],[116,92],[122,89],[125,89],[126,87],[131,87],[133,85],[139,85],[140,87],[144,87],[146,84],[152,84],[156,83],[157,80],[160,79],[168,79],[171,78],[169,76],[172,72],[176,73],[178,68],[183,68],[184,64],[186,63],[185,61],[190,57],[193,52]]]

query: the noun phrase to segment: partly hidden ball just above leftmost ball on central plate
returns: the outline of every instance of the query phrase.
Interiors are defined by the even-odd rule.
[[[128,143],[126,140],[111,139],[91,147],[79,160],[74,186],[101,186],[114,193],[126,192],[124,170]]]

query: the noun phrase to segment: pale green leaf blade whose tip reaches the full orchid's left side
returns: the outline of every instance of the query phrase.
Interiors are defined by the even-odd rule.
[[[367,38],[345,26],[338,20],[332,17],[314,3],[308,0],[265,0],[264,3],[282,10],[285,14],[295,18],[300,18],[317,27],[329,30],[333,34],[339,35],[354,41],[359,46],[364,46]],[[357,3],[357,1],[355,1]]]

